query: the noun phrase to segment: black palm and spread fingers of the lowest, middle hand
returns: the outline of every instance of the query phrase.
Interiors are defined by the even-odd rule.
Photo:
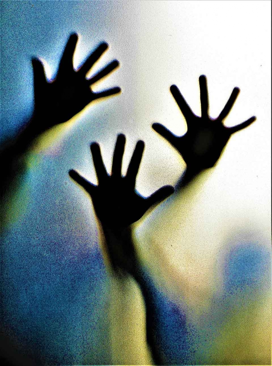
[[[163,201],[174,192],[173,187],[164,186],[150,197],[144,198],[135,191],[136,177],[144,152],[144,142],[137,142],[127,174],[123,177],[121,169],[125,142],[125,136],[120,134],[113,153],[111,176],[107,174],[103,164],[98,143],[92,143],[91,152],[98,186],[88,182],[74,170],[69,172],[70,177],[90,194],[102,226],[109,228],[128,227],[138,221],[151,206]]]

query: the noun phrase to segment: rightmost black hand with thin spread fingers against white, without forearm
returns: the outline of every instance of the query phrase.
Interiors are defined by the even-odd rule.
[[[212,119],[208,114],[209,103],[206,76],[200,76],[199,85],[201,117],[196,116],[191,111],[176,85],[170,87],[172,96],[175,98],[180,111],[186,119],[187,132],[185,135],[178,137],[160,123],[152,125],[156,132],[167,139],[178,150],[185,160],[187,168],[196,172],[213,167],[231,135],[249,126],[256,119],[256,117],[251,117],[234,127],[223,125],[223,120],[227,117],[239,94],[240,90],[238,87],[232,90],[231,96],[220,115],[216,119]]]

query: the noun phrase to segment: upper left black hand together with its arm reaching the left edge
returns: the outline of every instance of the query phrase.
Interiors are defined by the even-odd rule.
[[[94,83],[119,66],[117,60],[113,60],[91,78],[86,78],[87,72],[107,50],[108,44],[103,42],[98,45],[87,57],[85,63],[78,70],[75,70],[73,56],[77,41],[77,34],[71,34],[64,48],[56,78],[52,81],[46,79],[42,62],[37,58],[32,59],[34,111],[21,133],[13,141],[5,143],[5,148],[1,151],[1,158],[6,170],[6,178],[2,179],[2,190],[4,191],[18,172],[19,157],[25,153],[38,135],[56,124],[68,121],[90,102],[120,93],[119,87],[98,93],[94,93],[91,89]]]

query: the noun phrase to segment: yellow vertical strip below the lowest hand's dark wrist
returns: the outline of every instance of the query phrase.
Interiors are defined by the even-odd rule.
[[[153,365],[146,342],[145,305],[132,277],[111,277],[109,304],[112,363]]]

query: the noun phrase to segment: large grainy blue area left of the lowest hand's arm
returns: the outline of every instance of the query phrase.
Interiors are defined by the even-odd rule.
[[[26,173],[27,210],[5,232],[3,326],[34,358],[85,363],[88,356],[110,363],[108,277],[98,234],[91,210],[82,214],[74,205],[74,183],[68,170],[57,173],[59,164],[47,157]],[[82,190],[75,192],[91,207]]]

